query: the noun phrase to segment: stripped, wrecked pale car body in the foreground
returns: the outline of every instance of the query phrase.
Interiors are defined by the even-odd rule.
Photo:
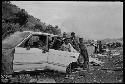
[[[46,49],[39,48],[37,44],[27,47],[29,39],[35,37],[39,37]],[[2,47],[15,48],[13,60],[14,72],[44,69],[61,71],[64,73],[70,72],[70,65],[73,62],[77,62],[80,54],[78,52],[68,52],[49,48],[50,37],[54,38],[56,36],[42,32],[24,31],[15,33],[11,36],[12,40],[3,42],[4,44],[2,44]]]

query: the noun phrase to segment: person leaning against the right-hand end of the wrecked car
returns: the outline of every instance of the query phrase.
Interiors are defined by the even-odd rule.
[[[87,52],[87,48],[83,43],[83,38],[79,38],[79,48],[80,48],[80,54],[81,54],[81,59],[84,61],[83,65],[83,69],[88,69],[89,68],[89,56],[88,56],[88,52]]]

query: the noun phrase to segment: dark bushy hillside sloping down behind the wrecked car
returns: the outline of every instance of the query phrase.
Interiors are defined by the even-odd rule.
[[[20,9],[10,1],[2,2],[2,39],[15,31],[32,30],[51,34],[61,34],[57,25],[47,25],[40,19]]]

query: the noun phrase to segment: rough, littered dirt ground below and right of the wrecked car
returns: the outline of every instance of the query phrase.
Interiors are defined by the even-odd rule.
[[[88,50],[93,48],[89,47]],[[42,83],[40,80],[48,79],[52,83],[123,83],[123,48],[117,48],[118,56],[97,58],[104,62],[102,65],[90,64],[89,70],[78,71],[70,75],[56,71],[34,71],[18,73],[10,83]],[[93,50],[89,51],[89,55]],[[50,79],[50,80],[49,80]],[[2,82],[6,82],[2,80]]]

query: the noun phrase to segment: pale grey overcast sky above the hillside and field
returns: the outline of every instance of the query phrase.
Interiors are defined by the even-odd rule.
[[[11,1],[41,22],[90,39],[123,37],[123,2]]]

